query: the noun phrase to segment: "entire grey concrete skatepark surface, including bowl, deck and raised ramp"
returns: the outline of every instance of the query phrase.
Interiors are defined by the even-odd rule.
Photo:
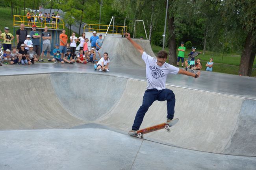
[[[135,41],[154,55],[147,40]],[[0,170],[256,168],[255,78],[169,75],[180,121],[170,133],[130,137],[147,87],[145,64],[126,39],[103,44],[109,73],[91,63],[0,67]],[[141,128],[166,116],[166,102],[156,101]]]

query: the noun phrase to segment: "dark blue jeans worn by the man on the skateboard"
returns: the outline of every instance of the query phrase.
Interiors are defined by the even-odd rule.
[[[141,126],[145,113],[154,101],[167,101],[167,118],[173,119],[174,106],[175,106],[175,95],[170,89],[163,89],[158,91],[157,89],[146,90],[143,96],[143,102],[137,114],[135,116],[132,130],[138,130]],[[157,115],[156,115],[157,116]]]

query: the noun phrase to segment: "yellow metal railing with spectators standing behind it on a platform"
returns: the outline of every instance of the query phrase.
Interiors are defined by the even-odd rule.
[[[25,27],[32,27],[32,25],[36,25],[37,28],[45,28],[45,26],[48,27],[48,29],[55,29],[55,30],[62,30],[65,28],[65,23],[62,19],[59,19],[60,22],[57,23],[47,23],[46,17],[35,17],[31,16],[31,18],[37,18],[37,21],[35,22],[35,19],[32,21],[28,21],[27,16],[25,15],[13,15],[13,26],[20,26],[20,24],[24,24]],[[43,22],[41,22],[40,18],[43,18]]]

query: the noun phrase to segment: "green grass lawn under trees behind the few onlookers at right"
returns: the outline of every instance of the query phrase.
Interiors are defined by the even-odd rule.
[[[160,50],[162,50],[162,47],[160,46],[156,46],[156,45],[151,45],[153,52],[156,54],[158,53]],[[164,49],[165,51],[169,51],[168,48]],[[190,52],[191,49],[187,49],[185,52],[185,59],[187,54]],[[202,52],[202,50],[198,50],[200,52]],[[178,54],[178,50],[177,50],[177,54]],[[202,70],[204,70],[206,68],[206,63],[208,61],[210,61],[210,58],[213,58],[213,71],[214,72],[221,72],[221,73],[227,73],[227,74],[236,74],[238,75],[238,71],[239,71],[239,65],[240,65],[240,58],[241,58],[241,54],[234,54],[234,53],[230,53],[230,54],[226,54],[224,53],[223,56],[223,60],[222,60],[222,52],[211,52],[211,51],[206,51],[205,54],[200,54],[198,55],[198,57],[201,59],[201,63],[202,63]],[[167,58],[168,61],[168,58]],[[180,61],[180,65],[181,65],[181,61]],[[252,72],[252,76],[256,76],[256,60],[254,59],[254,68],[255,69]]]

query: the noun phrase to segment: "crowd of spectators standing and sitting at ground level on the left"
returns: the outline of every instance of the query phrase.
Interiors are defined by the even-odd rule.
[[[17,48],[12,47],[12,40],[14,36],[9,33],[9,28],[4,28],[4,33],[1,33],[0,38],[3,39],[3,56],[2,61],[4,64],[18,64],[30,65],[35,62],[44,62],[46,53],[48,62],[54,63],[94,63],[95,70],[109,71],[109,57],[104,53],[104,57],[100,57],[98,50],[102,47],[102,35],[97,36],[96,31],[93,31],[93,36],[90,37],[91,48],[88,50],[89,39],[86,38],[85,33],[80,37],[76,37],[73,32],[69,37],[66,35],[65,29],[59,35],[60,44],[55,44],[52,51],[53,58],[51,59],[51,39],[52,35],[45,26],[44,31],[39,34],[36,25],[32,26],[32,31],[28,32],[24,29],[24,24],[20,24],[19,30],[16,31]],[[40,45],[42,39],[42,46]],[[79,42],[79,52],[76,52],[77,43]],[[42,50],[41,50],[42,49]],[[98,58],[96,57],[98,54]],[[100,63],[98,63],[100,60]],[[2,64],[1,64],[2,65]]]

